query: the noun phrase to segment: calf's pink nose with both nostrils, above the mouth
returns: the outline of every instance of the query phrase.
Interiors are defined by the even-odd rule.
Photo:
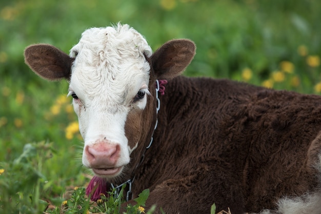
[[[120,153],[117,144],[98,142],[85,148],[87,160],[92,168],[114,167]]]

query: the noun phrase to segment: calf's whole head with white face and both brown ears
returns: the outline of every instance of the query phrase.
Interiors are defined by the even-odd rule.
[[[118,24],[86,30],[70,55],[51,45],[31,45],[25,62],[46,80],[70,81],[68,95],[85,141],[83,164],[112,181],[133,150],[150,140],[155,80],[179,75],[194,54],[189,40],[172,40],[152,54],[141,34]]]

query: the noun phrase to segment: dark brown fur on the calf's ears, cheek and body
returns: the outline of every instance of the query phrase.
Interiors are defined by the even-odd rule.
[[[40,46],[26,49],[31,69],[45,79],[68,79],[73,59]],[[147,59],[151,95],[143,111],[128,114],[125,127],[130,147],[139,141],[124,178],[135,177],[133,197],[149,188],[147,207],[156,204],[167,213],[209,213],[215,203],[217,210],[238,214],[318,191],[321,97],[176,77],[194,54],[193,42],[175,40]],[[146,150],[156,121],[156,79],[170,81]]]

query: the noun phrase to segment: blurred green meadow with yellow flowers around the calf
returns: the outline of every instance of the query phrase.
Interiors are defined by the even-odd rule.
[[[91,178],[68,83],[36,76],[24,63],[26,46],[68,53],[85,29],[122,22],[153,50],[172,38],[193,40],[196,56],[184,75],[321,94],[320,20],[318,0],[1,1],[0,212],[66,206]]]

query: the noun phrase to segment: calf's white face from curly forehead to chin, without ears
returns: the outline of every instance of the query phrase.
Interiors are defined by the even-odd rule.
[[[144,53],[151,52],[127,25],[88,29],[71,49],[69,95],[85,140],[83,164],[97,176],[119,176],[137,147],[139,138],[127,136],[140,133],[130,123],[137,124],[148,102],[150,66]]]

